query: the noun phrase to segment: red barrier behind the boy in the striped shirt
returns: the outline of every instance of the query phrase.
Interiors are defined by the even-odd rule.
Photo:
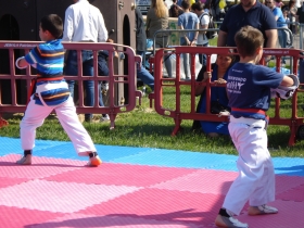
[[[10,59],[10,73],[1,74],[0,72],[0,86],[1,81],[4,79],[11,80],[11,97],[12,102],[10,104],[3,104],[3,99],[1,98],[0,92],[0,128],[4,125],[8,125],[8,122],[1,118],[2,113],[23,113],[25,111],[25,105],[17,103],[17,86],[16,80],[26,80],[26,90],[30,88],[30,80],[36,76],[31,74],[31,68],[27,67],[26,69],[18,71],[15,67],[15,60],[20,55],[24,55],[29,52],[30,49],[36,47],[40,42],[33,41],[0,41],[0,49],[8,50]],[[115,126],[115,118],[118,113],[130,112],[136,107],[136,97],[139,97],[139,102],[141,101],[141,91],[136,90],[137,79],[136,79],[136,67],[137,63],[140,63],[141,58],[135,54],[135,51],[127,46],[119,46],[115,43],[92,43],[92,42],[63,42],[64,48],[66,50],[77,50],[78,53],[78,75],[75,76],[66,76],[65,79],[75,80],[78,83],[78,96],[79,96],[79,104],[76,105],[77,113],[94,113],[102,114],[106,113],[111,119],[111,128]],[[81,64],[81,50],[92,50],[93,51],[93,77],[83,76],[83,64]],[[109,51],[107,65],[109,65],[109,76],[98,76],[98,51],[106,50]],[[126,56],[127,65],[127,74],[116,75],[114,74],[114,51],[123,52]],[[16,55],[16,52],[21,52],[23,54]],[[0,63],[1,65],[1,63]],[[16,74],[18,72],[18,74]],[[109,98],[110,101],[106,106],[99,106],[99,102],[94,102],[94,106],[85,106],[84,105],[84,80],[94,80],[94,81],[107,81],[109,83]],[[128,103],[124,104],[119,102],[119,98],[117,98],[117,88],[118,85],[128,85]],[[98,91],[98,83],[94,84],[94,101],[99,101],[99,91]],[[115,101],[115,98],[116,101]],[[125,99],[125,98],[123,98]]]

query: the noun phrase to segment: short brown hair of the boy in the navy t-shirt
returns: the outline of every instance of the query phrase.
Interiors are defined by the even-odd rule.
[[[240,56],[253,56],[256,50],[263,47],[264,37],[258,29],[248,25],[236,34],[235,41]]]

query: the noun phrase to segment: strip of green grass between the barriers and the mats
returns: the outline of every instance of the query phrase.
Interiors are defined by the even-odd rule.
[[[188,86],[181,87],[182,112],[189,112],[190,110],[189,88]],[[144,97],[141,106],[137,106],[132,112],[118,114],[114,130],[109,129],[109,123],[84,123],[84,126],[91,135],[94,143],[98,144],[147,147],[225,154],[237,153],[229,137],[211,139],[202,132],[194,132],[191,129],[192,121],[182,121],[182,130],[177,136],[172,137],[170,134],[175,126],[173,118],[156,114],[154,109],[149,107],[149,103],[150,100]],[[301,94],[299,96],[299,104],[303,103],[304,99]],[[174,110],[175,90],[173,87],[164,88],[163,106]],[[291,115],[290,101],[282,101],[281,107],[281,116],[289,117]],[[270,109],[268,114],[273,115],[274,109]],[[297,116],[303,116],[303,114],[304,112],[301,109]],[[21,118],[21,115],[7,117],[9,126],[0,129],[0,136],[18,138]],[[292,148],[288,147],[290,136],[289,127],[270,125],[267,131],[268,144],[273,156],[304,156],[304,141],[299,141]],[[38,128],[37,139],[69,140],[59,121],[53,115],[46,119],[42,127]]]

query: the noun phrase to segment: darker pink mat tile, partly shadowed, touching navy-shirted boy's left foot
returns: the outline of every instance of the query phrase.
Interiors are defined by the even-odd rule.
[[[81,213],[123,217],[142,217],[181,223],[212,223],[223,202],[221,195],[177,190],[142,189]]]

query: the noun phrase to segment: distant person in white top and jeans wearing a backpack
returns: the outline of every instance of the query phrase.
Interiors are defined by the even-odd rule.
[[[195,13],[200,21],[200,29],[207,29],[210,24],[210,15],[204,12],[204,4],[197,2],[191,5],[192,12]],[[207,47],[208,39],[206,37],[206,31],[200,31],[197,41],[198,47]],[[199,60],[202,66],[206,65],[206,55],[199,54]]]

